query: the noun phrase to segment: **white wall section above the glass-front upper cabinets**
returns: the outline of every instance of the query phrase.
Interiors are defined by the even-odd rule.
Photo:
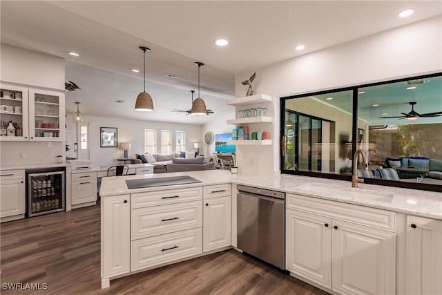
[[[64,58],[3,43],[0,46],[2,81],[64,89]]]

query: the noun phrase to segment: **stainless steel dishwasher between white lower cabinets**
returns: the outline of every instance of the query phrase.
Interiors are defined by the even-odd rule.
[[[285,270],[285,193],[238,185],[238,248]]]

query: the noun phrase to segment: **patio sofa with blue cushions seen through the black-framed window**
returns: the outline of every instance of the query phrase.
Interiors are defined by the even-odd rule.
[[[393,168],[399,171],[401,178],[414,178],[413,169],[419,169],[423,176],[442,180],[442,160],[427,157],[387,158],[384,168]]]

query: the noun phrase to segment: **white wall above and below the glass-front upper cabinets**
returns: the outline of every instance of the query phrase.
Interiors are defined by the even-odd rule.
[[[64,59],[0,44],[0,79],[23,86],[64,89]],[[26,158],[20,154],[26,153]],[[64,155],[64,142],[0,142],[0,164],[46,164]]]

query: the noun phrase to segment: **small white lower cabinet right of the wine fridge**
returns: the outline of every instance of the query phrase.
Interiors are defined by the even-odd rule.
[[[73,208],[97,203],[97,172],[73,173],[71,185]]]

